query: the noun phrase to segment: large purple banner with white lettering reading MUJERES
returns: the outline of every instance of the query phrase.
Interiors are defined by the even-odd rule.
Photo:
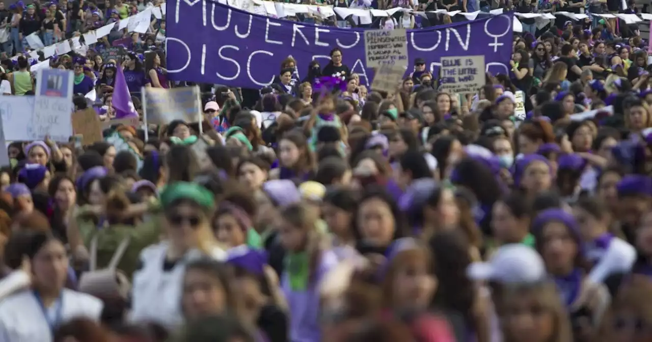
[[[342,50],[344,64],[361,83],[368,85],[374,77],[374,70],[364,66],[363,29],[278,20],[214,0],[171,0],[167,6],[167,67],[173,80],[258,89],[272,83],[289,55],[297,60],[302,79],[308,63],[318,60],[323,68],[333,48]],[[408,59],[421,57],[434,71],[441,57],[484,55],[487,71],[507,74],[512,20],[512,14],[502,14],[408,30]]]

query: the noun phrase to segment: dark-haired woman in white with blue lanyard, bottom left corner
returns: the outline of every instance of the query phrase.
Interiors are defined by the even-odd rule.
[[[50,233],[17,232],[12,236],[10,266],[18,268],[21,256],[31,264],[31,286],[0,304],[0,335],[7,341],[53,340],[57,326],[85,317],[98,321],[103,304],[88,294],[65,289],[68,256],[61,240]],[[21,322],[31,322],[22,324]]]

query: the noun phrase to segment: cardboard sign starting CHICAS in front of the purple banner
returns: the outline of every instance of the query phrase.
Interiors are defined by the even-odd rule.
[[[364,31],[366,67],[383,64],[408,65],[408,38],[405,29]]]

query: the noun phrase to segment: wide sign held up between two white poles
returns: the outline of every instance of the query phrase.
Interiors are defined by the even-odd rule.
[[[202,119],[199,87],[162,89],[146,87],[145,117],[147,123],[167,124],[173,120],[199,122]]]

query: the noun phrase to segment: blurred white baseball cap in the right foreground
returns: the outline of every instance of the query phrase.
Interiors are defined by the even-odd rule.
[[[535,283],[546,279],[546,266],[535,249],[524,244],[506,244],[486,263],[473,263],[466,269],[473,280],[498,283]]]

